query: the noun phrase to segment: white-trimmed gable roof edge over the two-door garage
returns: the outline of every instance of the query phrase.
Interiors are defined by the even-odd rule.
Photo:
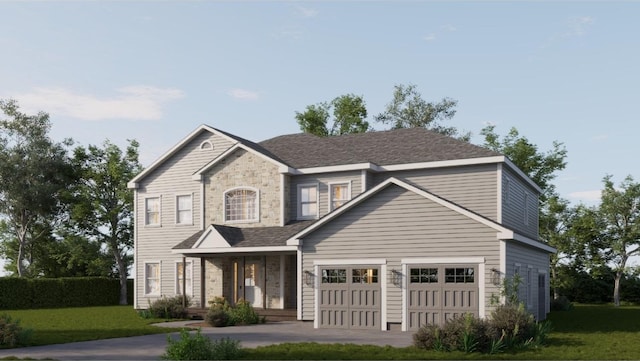
[[[484,216],[481,216],[473,211],[470,211],[464,207],[461,207],[447,199],[441,198],[427,190],[424,190],[422,188],[419,188],[415,185],[409,184],[407,182],[401,181],[397,178],[389,178],[386,181],[380,183],[379,185],[371,188],[370,190],[358,195],[356,198],[352,199],[351,201],[347,202],[345,205],[343,205],[342,207],[336,209],[335,211],[325,215],[324,217],[320,218],[320,220],[318,220],[317,222],[315,222],[314,224],[312,224],[311,226],[301,230],[299,233],[293,235],[291,238],[289,238],[286,242],[287,245],[290,246],[299,246],[301,244],[301,239],[306,237],[307,235],[311,234],[312,232],[314,232],[315,230],[317,230],[318,228],[322,227],[323,225],[325,225],[326,223],[330,222],[331,220],[335,219],[336,217],[340,217],[341,214],[347,212],[349,209],[355,207],[356,205],[364,202],[365,200],[375,196],[377,193],[379,193],[381,190],[389,187],[389,186],[398,186],[401,188],[406,189],[407,191],[416,193],[426,199],[429,199],[435,203],[438,203],[439,205],[449,208],[463,216],[466,216],[470,219],[473,219],[479,223],[482,223],[490,228],[493,228],[496,230],[496,237],[497,239],[500,240],[515,240],[524,244],[527,244],[529,246],[532,246],[534,248],[538,248],[540,250],[543,250],[545,252],[549,252],[549,253],[555,253],[556,250],[555,248],[546,245],[542,242],[539,242],[537,240],[528,238],[526,236],[520,235],[516,232],[514,232],[511,229],[508,229],[506,227],[504,227],[503,225],[489,219],[486,218]]]

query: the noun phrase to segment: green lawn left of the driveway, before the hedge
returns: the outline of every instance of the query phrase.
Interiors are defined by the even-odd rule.
[[[143,319],[131,306],[2,311],[33,330],[29,346],[178,331],[151,326],[162,319]]]

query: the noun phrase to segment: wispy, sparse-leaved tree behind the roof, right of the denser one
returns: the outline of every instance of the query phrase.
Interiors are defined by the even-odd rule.
[[[422,99],[416,85],[400,84],[394,87],[393,99],[387,104],[384,112],[378,114],[375,119],[377,122],[391,125],[391,129],[427,128],[469,141],[470,133],[458,135],[455,127],[446,127],[439,123],[453,118],[457,104],[458,101],[450,98],[443,98],[439,103],[427,102]]]

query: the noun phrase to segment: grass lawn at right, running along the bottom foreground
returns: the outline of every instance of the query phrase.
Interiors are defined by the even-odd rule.
[[[517,353],[426,351],[415,347],[288,343],[248,349],[252,360],[637,360],[640,356],[640,307],[578,305],[552,312],[548,345]],[[411,337],[411,333],[407,333]]]

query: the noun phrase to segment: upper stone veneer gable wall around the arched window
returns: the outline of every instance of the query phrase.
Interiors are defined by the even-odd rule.
[[[227,223],[234,227],[280,225],[280,173],[275,164],[244,149],[238,149],[216,164],[205,175],[206,221],[225,224],[224,192],[237,187],[252,187],[260,193],[258,222]]]

